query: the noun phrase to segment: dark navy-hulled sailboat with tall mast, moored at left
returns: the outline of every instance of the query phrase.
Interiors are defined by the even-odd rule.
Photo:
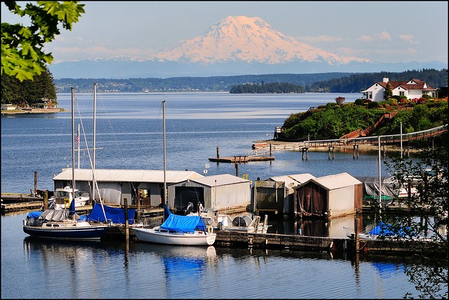
[[[74,160],[74,88],[72,88],[72,201],[69,210],[30,212],[27,218],[23,219],[23,231],[29,236],[62,240],[95,240],[105,234],[108,225],[80,221],[76,215]]]

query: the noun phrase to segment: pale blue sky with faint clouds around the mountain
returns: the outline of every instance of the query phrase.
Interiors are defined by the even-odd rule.
[[[24,4],[24,2],[19,2]],[[448,62],[448,1],[81,1],[72,31],[46,44],[55,62],[149,57],[232,15],[259,17],[316,48],[373,62]],[[25,22],[1,4],[2,22]]]

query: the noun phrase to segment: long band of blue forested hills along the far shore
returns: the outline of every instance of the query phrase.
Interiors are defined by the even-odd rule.
[[[358,93],[375,81],[388,77],[390,81],[408,81],[420,79],[432,88],[448,86],[448,71],[422,69],[402,73],[317,73],[317,74],[266,74],[212,77],[171,77],[132,78],[132,79],[55,79],[58,93],[70,93],[73,86],[77,92],[91,92],[93,83],[98,84],[98,92],[229,92],[233,86],[244,83],[290,83],[305,88],[306,92]]]

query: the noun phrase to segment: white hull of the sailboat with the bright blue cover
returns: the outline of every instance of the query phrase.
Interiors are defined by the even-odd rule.
[[[182,246],[210,246],[215,243],[217,233],[194,231],[194,233],[168,232],[154,227],[152,229],[134,228],[135,236],[142,242],[182,245]]]

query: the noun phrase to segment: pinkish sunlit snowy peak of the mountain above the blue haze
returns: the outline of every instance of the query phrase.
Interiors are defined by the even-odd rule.
[[[258,17],[228,16],[203,35],[160,52],[156,60],[176,62],[260,62],[283,64],[293,61],[347,64],[369,62],[358,57],[340,57],[286,36]]]

